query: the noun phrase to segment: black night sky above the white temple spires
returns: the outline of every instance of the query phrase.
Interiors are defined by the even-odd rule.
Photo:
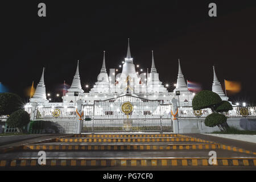
[[[38,16],[40,2],[46,18]],[[217,17],[208,16],[210,2],[217,4]],[[180,59],[185,80],[211,90],[215,65],[222,86],[224,78],[242,82],[230,101],[256,102],[255,1],[5,1],[0,16],[0,82],[24,100],[24,89],[38,84],[43,67],[47,92],[61,93],[64,80],[72,83],[77,60],[88,92],[102,52],[107,69],[118,69],[130,38],[134,64],[142,69],[150,70],[154,50],[163,84],[176,82]]]

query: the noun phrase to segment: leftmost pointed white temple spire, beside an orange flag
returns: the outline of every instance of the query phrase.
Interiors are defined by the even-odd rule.
[[[46,85],[44,85],[44,68],[43,73],[40,78],[38,85],[36,86],[36,90],[34,96],[30,99],[30,102],[43,102],[47,101],[46,99]]]

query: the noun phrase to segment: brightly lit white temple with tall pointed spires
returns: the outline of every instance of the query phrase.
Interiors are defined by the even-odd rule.
[[[97,82],[89,93],[85,93],[82,89],[79,61],[77,61],[71,88],[62,97],[63,102],[47,100],[43,69],[35,94],[25,106],[26,110],[31,113],[32,120],[54,119],[55,122],[61,122],[61,125],[64,125],[65,122],[67,125],[71,125],[73,122],[76,129],[70,131],[71,133],[81,133],[96,126],[103,125],[105,127],[104,123],[108,123],[109,126],[124,127],[127,121],[139,127],[151,125],[161,128],[172,127],[170,122],[175,121],[172,119],[175,119],[173,114],[177,110],[179,110],[180,117],[197,117],[193,114],[191,107],[195,93],[188,90],[181,71],[180,60],[178,60],[176,88],[173,92],[168,92],[159,80],[159,73],[156,69],[158,61],[154,57],[153,51],[151,61],[150,73],[139,74],[136,72],[128,39],[127,55],[123,60],[122,72],[116,75],[113,68],[109,69],[109,73],[107,72],[108,60],[105,59],[104,51],[102,67],[98,68]],[[212,91],[219,94],[222,100],[228,100],[217,79],[214,67]],[[122,110],[122,105],[127,102],[130,103],[129,114]],[[68,120],[65,121],[65,119]],[[83,121],[82,126],[77,119]]]

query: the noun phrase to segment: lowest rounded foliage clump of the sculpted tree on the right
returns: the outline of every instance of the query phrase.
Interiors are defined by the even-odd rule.
[[[212,113],[205,118],[204,124],[205,126],[208,126],[208,127],[214,127],[214,126],[222,125],[223,123],[226,122],[226,119],[227,118],[223,114]]]

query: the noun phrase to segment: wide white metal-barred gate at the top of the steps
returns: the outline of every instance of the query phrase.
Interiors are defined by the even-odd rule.
[[[129,102],[133,110],[124,114],[121,106]],[[82,132],[98,131],[172,131],[171,105],[159,100],[120,96],[84,105]]]

